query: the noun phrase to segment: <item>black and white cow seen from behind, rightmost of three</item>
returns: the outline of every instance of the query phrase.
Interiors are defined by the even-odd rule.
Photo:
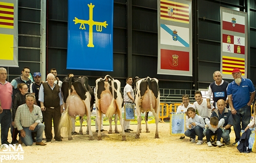
[[[156,78],[136,78],[135,79],[135,104],[136,104],[136,113],[137,113],[137,121],[138,127],[136,132],[136,139],[140,138],[141,132],[141,113],[152,112],[155,116],[156,121],[156,134],[155,138],[159,138],[158,134],[158,113],[160,108],[160,91],[158,87],[158,79]],[[145,121],[147,117],[145,117]],[[147,121],[146,121],[146,132],[148,131]]]

